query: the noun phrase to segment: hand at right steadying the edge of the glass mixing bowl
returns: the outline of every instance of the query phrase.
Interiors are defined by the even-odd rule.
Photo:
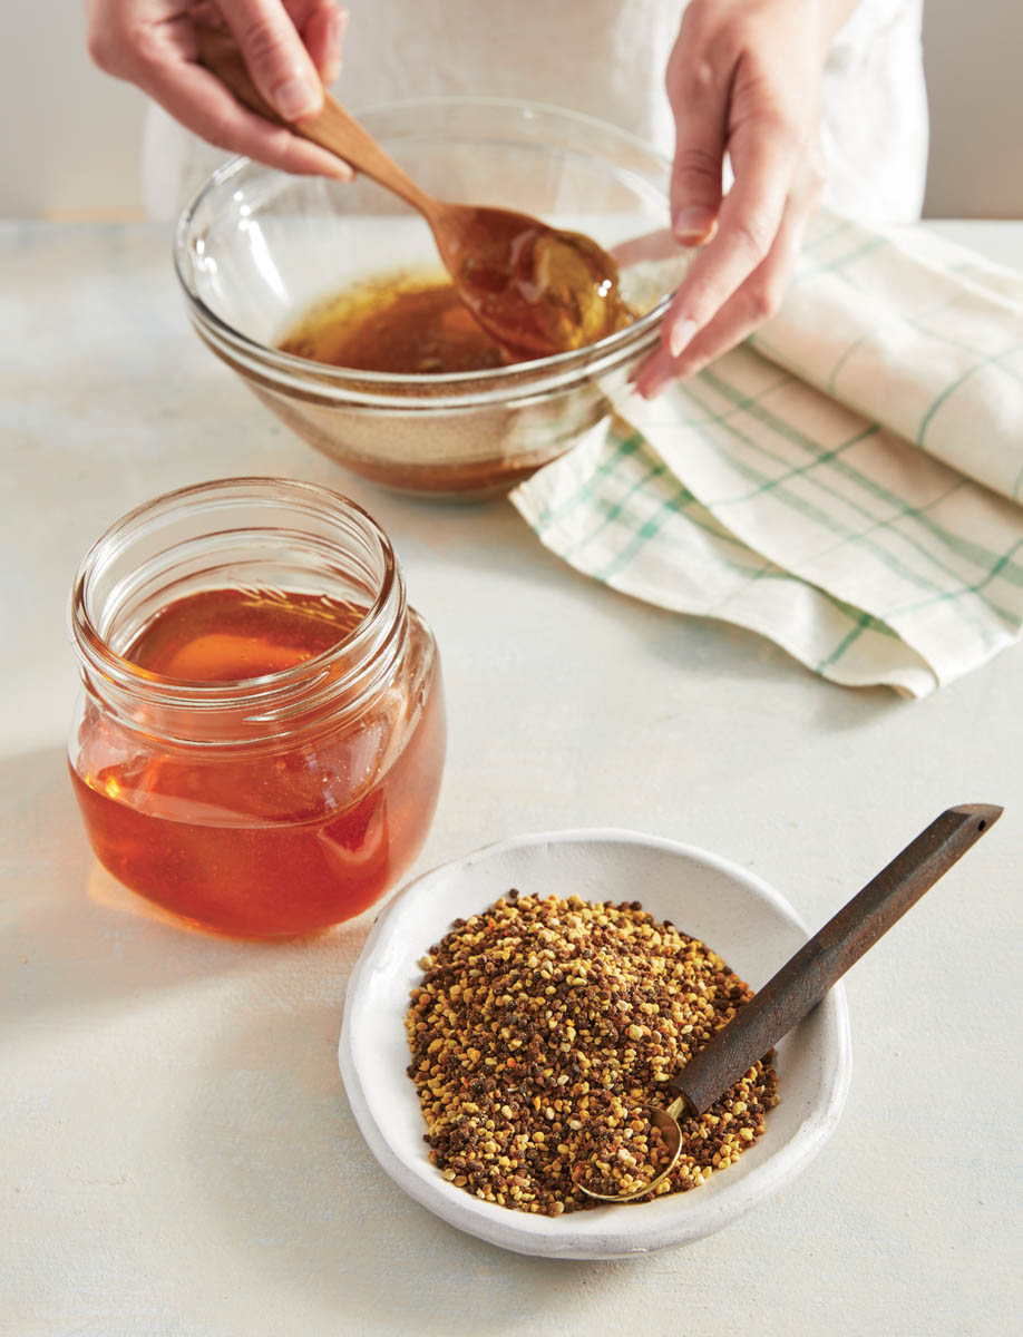
[[[824,185],[820,86],[856,0],[691,0],[667,66],[671,230],[701,245],[635,378],[653,398],[781,302]],[[725,154],[734,183],[722,198]]]

